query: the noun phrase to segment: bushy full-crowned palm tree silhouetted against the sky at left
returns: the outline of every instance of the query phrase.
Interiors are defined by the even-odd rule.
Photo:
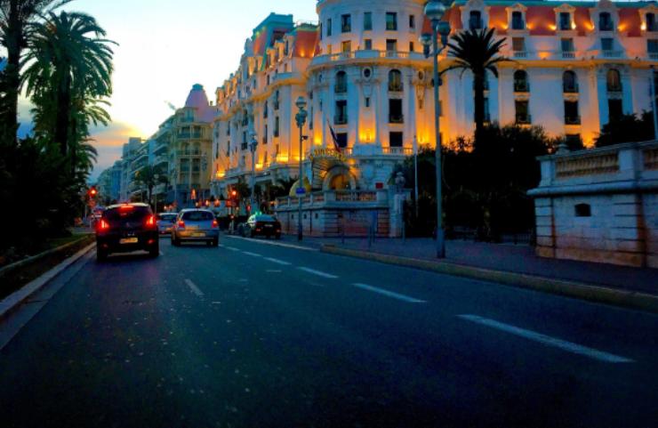
[[[90,123],[107,125],[100,107],[112,93],[112,56],[106,33],[84,13],[48,13],[31,26],[24,81],[36,103],[36,130],[60,145],[62,155],[87,135]]]

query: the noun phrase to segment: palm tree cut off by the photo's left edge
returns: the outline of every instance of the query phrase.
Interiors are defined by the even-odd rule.
[[[47,12],[72,0],[0,0],[0,44],[7,50],[6,69],[0,96],[0,141],[15,142],[18,130],[18,101],[20,93],[20,60],[27,47],[28,27]]]

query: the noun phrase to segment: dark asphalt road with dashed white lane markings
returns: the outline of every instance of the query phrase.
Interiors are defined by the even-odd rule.
[[[161,249],[92,252],[4,321],[0,426],[658,426],[654,315],[244,238]]]

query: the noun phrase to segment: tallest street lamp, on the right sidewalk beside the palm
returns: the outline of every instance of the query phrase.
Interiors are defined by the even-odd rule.
[[[441,172],[441,128],[439,114],[441,105],[439,103],[439,77],[438,77],[438,55],[445,49],[448,43],[448,35],[450,35],[450,24],[441,20],[445,14],[445,5],[437,0],[430,0],[425,5],[425,15],[432,22],[432,34],[423,34],[421,36],[421,44],[424,47],[425,56],[432,55],[434,60],[434,126],[437,138],[437,258],[445,258],[445,236],[443,230],[443,191],[442,185],[442,172]],[[438,36],[441,36],[441,48],[438,47]],[[432,50],[430,52],[429,44],[431,43]]]

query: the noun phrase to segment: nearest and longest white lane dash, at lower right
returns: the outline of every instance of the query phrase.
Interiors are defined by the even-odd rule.
[[[567,342],[566,340],[558,339],[556,337],[551,337],[550,335],[542,335],[541,333],[536,333],[532,330],[526,330],[525,328],[510,326],[509,324],[504,324],[502,322],[496,321],[494,319],[486,319],[479,317],[477,315],[457,315],[461,319],[466,319],[467,321],[475,322],[477,324],[482,324],[486,327],[493,327],[498,330],[510,333],[512,335],[518,335],[520,337],[525,337],[526,339],[533,340],[534,342],[543,343],[545,345],[553,346],[559,348],[563,351],[572,352],[578,355],[583,355],[589,357],[590,359],[598,359],[599,361],[604,361],[608,363],[632,363],[632,359],[627,359],[625,357],[620,357],[604,351],[598,351],[593,348],[588,348],[587,346],[582,346],[578,343]]]

